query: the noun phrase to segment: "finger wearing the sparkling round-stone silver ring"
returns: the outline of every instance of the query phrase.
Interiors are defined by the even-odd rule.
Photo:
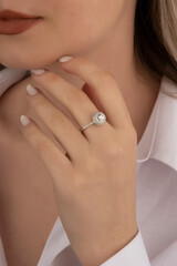
[[[50,92],[56,100],[66,106],[81,127],[88,124],[92,121],[93,114],[98,112],[94,103],[82,90],[79,90],[62,76],[46,71],[41,75],[32,73],[32,78],[37,84],[35,86]],[[94,131],[93,126],[95,127]],[[105,129],[112,127],[107,121],[104,123],[104,126]],[[95,136],[102,134],[102,132],[100,126],[92,125],[84,131],[84,135],[88,142],[92,142],[95,140]]]

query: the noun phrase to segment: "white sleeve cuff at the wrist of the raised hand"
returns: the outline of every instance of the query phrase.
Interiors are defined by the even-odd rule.
[[[101,266],[150,266],[140,231],[124,248]]]

